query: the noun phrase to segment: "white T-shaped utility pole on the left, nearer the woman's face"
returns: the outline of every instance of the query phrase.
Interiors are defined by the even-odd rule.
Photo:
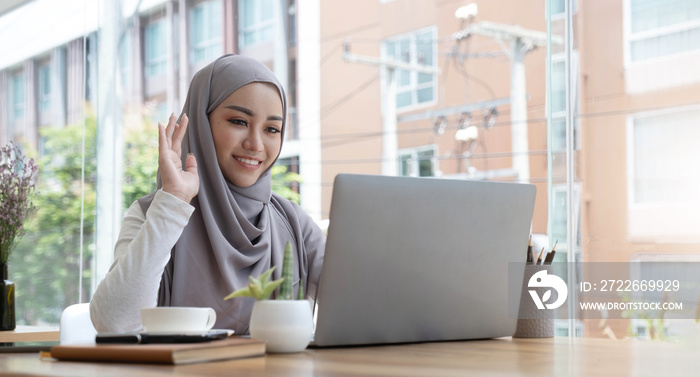
[[[382,96],[382,175],[398,172],[398,141],[396,140],[396,70],[403,69],[419,73],[439,74],[440,69],[421,64],[411,64],[389,58],[355,55],[350,52],[350,43],[343,42],[343,59],[349,63],[378,66],[386,78],[386,92]]]

